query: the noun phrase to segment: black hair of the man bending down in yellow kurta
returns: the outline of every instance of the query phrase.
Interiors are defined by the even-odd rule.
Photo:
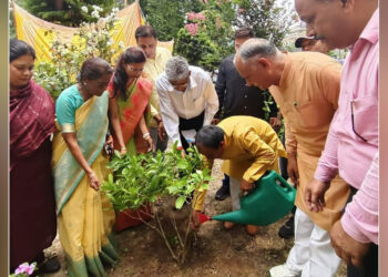
[[[195,134],[195,144],[203,145],[211,148],[218,148],[221,145],[221,142],[224,141],[225,132],[218,126],[215,125],[207,125],[203,126],[196,134]]]

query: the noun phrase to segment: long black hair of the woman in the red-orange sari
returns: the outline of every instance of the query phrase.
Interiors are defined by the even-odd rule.
[[[113,76],[113,98],[119,93],[120,96],[125,101],[126,95],[126,82],[129,76],[125,72],[125,66],[129,63],[141,63],[145,62],[146,57],[141,48],[132,47],[125,49],[125,51],[120,55],[118,64],[114,69]]]

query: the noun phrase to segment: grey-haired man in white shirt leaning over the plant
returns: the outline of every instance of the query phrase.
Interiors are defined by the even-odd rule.
[[[155,86],[167,135],[173,143],[177,142],[178,148],[186,150],[188,143],[182,131],[198,131],[210,125],[218,111],[212,79],[204,70],[188,65],[186,59],[173,57],[156,79]]]

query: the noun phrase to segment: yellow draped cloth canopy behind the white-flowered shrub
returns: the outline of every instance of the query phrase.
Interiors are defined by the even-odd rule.
[[[38,61],[50,61],[50,45],[55,35],[63,42],[76,40],[74,34],[79,28],[63,27],[39,19],[13,1],[12,8],[17,38],[33,47]],[[120,41],[125,48],[136,45],[135,30],[142,24],[144,24],[144,19],[137,1],[120,10],[111,34],[114,41],[112,47],[116,48]],[[173,41],[159,42],[159,45],[167,48],[171,52],[173,50]]]

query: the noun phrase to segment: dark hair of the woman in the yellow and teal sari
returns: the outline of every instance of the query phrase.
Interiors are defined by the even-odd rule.
[[[76,81],[82,83],[83,79],[96,80],[106,73],[113,73],[109,62],[101,58],[89,58],[82,63]]]

